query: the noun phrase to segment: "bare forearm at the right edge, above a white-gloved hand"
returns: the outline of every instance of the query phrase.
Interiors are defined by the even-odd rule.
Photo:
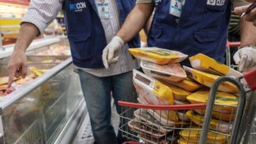
[[[256,45],[256,27],[253,26],[252,22],[241,19],[240,31],[241,47],[244,45]]]

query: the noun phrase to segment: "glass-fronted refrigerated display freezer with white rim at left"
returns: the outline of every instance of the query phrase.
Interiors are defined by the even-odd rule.
[[[79,77],[73,72],[71,58],[61,56],[65,60],[58,64],[36,61],[47,56],[28,57],[35,58],[30,59],[29,67],[51,70],[0,99],[0,144],[60,143],[73,120],[77,116],[83,120],[86,114]],[[4,73],[7,73],[6,65],[0,65],[0,74]]]

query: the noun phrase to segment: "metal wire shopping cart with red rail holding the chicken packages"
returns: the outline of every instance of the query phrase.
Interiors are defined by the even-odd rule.
[[[250,90],[255,90],[256,70],[244,77],[220,77],[211,88],[206,104],[150,105],[129,101],[119,101],[122,126],[120,131],[128,143],[239,143],[250,137],[251,121],[254,118],[256,98]],[[246,87],[241,79],[248,83]],[[237,86],[236,105],[214,104],[218,86],[224,81]],[[249,89],[250,88],[250,89]],[[247,97],[246,97],[247,95]],[[247,100],[246,100],[247,99]],[[253,101],[248,101],[253,100]],[[138,97],[140,102],[140,95]],[[253,105],[252,105],[253,104]],[[207,108],[205,109],[205,106]],[[244,114],[245,109],[248,113]],[[214,112],[213,112],[214,111]],[[213,115],[212,115],[213,114]],[[246,117],[247,116],[247,117]],[[248,117],[250,116],[250,117]],[[248,119],[249,118],[249,119]],[[242,123],[243,122],[243,123]],[[248,131],[246,131],[248,130]],[[247,134],[244,134],[244,132]]]

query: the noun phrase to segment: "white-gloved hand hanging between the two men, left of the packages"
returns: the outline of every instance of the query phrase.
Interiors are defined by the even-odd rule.
[[[111,42],[109,42],[102,52],[102,61],[105,68],[109,68],[109,64],[118,61],[118,56],[115,56],[115,53],[119,51],[123,45],[124,41],[120,37],[114,36],[112,38]]]

